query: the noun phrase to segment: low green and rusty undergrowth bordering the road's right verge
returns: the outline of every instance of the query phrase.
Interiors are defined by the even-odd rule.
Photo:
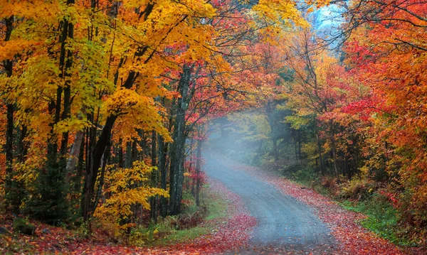
[[[359,223],[379,237],[400,246],[417,245],[417,240],[409,238],[407,230],[399,223],[399,211],[379,193],[377,183],[355,177],[338,185],[334,178],[320,178],[307,166],[290,165],[281,170],[285,178],[331,197],[347,210],[367,215]]]

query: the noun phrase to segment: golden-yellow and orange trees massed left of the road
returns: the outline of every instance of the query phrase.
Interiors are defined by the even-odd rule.
[[[120,235],[179,215],[183,188],[201,206],[208,123],[291,25],[280,1],[1,0],[3,209]]]

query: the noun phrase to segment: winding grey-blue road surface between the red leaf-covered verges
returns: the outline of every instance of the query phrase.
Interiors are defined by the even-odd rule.
[[[244,170],[227,166],[210,152],[204,153],[204,170],[241,197],[258,224],[253,231],[253,251],[238,254],[331,254],[336,244],[329,229],[307,205],[283,195],[272,185]],[[236,253],[236,252],[232,252]]]

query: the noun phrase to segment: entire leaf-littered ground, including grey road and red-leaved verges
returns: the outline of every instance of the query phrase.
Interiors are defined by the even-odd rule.
[[[204,232],[156,246],[116,244],[95,232],[84,239],[63,227],[36,224],[33,236],[0,235],[0,254],[426,254],[361,227],[364,215],[268,170],[204,153],[209,195],[225,204],[198,227]],[[11,215],[0,227],[11,232]]]

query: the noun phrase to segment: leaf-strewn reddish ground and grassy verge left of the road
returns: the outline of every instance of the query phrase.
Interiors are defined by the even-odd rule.
[[[230,249],[245,249],[256,224],[255,218],[248,215],[240,197],[218,181],[209,180],[207,193],[206,199],[220,200],[226,205],[220,208],[224,212],[211,213],[197,226],[205,230],[199,237],[156,246],[128,246],[111,242],[105,233],[98,231],[100,229],[96,229],[90,239],[85,239],[75,230],[31,222],[36,225],[32,236],[0,235],[0,254],[218,254]],[[13,229],[11,217],[9,214],[0,216],[0,227],[9,232]]]

